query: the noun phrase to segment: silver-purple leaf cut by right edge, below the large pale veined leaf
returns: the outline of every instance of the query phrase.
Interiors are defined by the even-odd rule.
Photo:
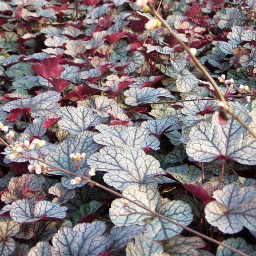
[[[229,184],[213,192],[216,201],[205,207],[205,218],[223,233],[234,234],[243,227],[256,231],[256,189]]]

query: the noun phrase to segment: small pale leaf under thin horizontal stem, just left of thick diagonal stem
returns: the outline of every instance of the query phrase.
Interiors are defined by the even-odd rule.
[[[213,105],[212,100],[196,100],[196,96],[188,96],[186,97],[186,100],[193,100],[193,101],[186,101],[181,103],[181,105],[184,107],[181,109],[181,112],[186,115],[197,115],[201,111],[205,110],[206,108],[209,108],[211,105]]]

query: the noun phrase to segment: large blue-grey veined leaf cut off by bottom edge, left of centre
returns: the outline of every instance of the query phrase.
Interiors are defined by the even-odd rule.
[[[106,247],[102,236],[106,224],[103,221],[77,224],[72,228],[63,227],[52,239],[53,255],[63,256],[96,256]]]

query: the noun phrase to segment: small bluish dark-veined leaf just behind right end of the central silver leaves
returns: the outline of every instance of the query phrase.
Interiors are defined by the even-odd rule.
[[[164,117],[160,119],[153,119],[144,121],[141,127],[148,130],[150,134],[159,138],[164,132],[166,132],[171,126],[174,126],[179,122],[179,119],[175,116]]]

